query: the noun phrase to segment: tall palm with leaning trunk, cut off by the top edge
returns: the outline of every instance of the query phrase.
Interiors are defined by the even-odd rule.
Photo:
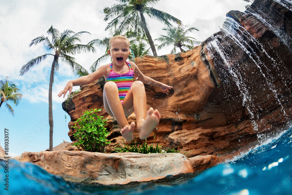
[[[182,22],[173,17],[172,15],[165,13],[163,11],[157,10],[153,7],[159,0],[116,0],[119,4],[114,4],[112,7],[106,7],[103,12],[106,14],[104,20],[111,20],[105,30],[112,27],[117,27],[120,32],[123,31],[133,31],[139,34],[145,32],[148,42],[150,44],[153,56],[157,56],[155,45],[153,43],[152,37],[147,27],[144,14],[150,16],[150,18],[155,18],[160,22],[171,25],[169,21],[175,22],[178,25],[182,25]],[[141,28],[143,31],[141,32]],[[142,36],[141,36],[142,37]]]

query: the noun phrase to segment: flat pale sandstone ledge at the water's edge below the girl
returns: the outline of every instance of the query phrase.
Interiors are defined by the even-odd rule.
[[[193,163],[179,153],[93,153],[86,151],[24,152],[20,162],[32,162],[65,180],[104,185],[151,181],[193,172]]]

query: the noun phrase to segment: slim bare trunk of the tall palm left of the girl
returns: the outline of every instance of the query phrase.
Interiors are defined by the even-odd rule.
[[[51,74],[50,74],[50,84],[49,84],[49,125],[50,125],[50,133],[49,133],[49,145],[50,151],[53,151],[53,101],[52,101],[52,87],[53,87],[53,80],[54,80],[54,69],[55,63],[58,61],[58,56],[54,56]]]

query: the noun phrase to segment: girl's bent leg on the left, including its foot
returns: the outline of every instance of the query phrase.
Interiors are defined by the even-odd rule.
[[[127,141],[131,141],[133,139],[133,130],[135,127],[135,122],[132,122],[131,125],[129,125],[124,113],[124,108],[119,99],[118,87],[114,82],[109,81],[105,83],[103,99],[105,110],[109,115],[116,118],[117,122],[121,126],[123,130],[123,131],[121,130],[122,136]]]

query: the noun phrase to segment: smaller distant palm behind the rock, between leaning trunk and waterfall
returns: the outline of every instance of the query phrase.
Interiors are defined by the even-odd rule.
[[[165,30],[167,35],[160,35],[158,39],[155,39],[162,42],[162,44],[158,46],[158,49],[173,45],[173,49],[170,52],[171,54],[176,54],[176,48],[179,48],[181,52],[185,52],[184,49],[192,49],[194,46],[201,44],[201,42],[196,41],[195,38],[187,37],[188,33],[194,30],[199,31],[194,27],[187,30],[185,30],[185,27],[167,27],[162,30]]]

